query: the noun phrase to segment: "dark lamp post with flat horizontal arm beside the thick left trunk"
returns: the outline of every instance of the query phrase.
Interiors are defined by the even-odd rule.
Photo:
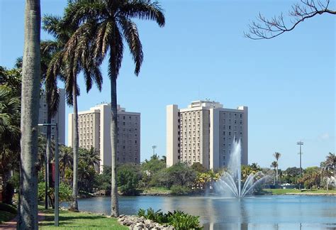
[[[58,192],[60,185],[59,162],[58,162],[58,126],[57,123],[52,124],[38,124],[38,126],[55,126],[56,127],[56,144],[55,144],[55,226],[58,226],[59,204]],[[47,198],[46,198],[47,199]]]

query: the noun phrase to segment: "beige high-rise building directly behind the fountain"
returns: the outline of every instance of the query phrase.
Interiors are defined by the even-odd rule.
[[[233,141],[242,145],[242,164],[248,159],[247,106],[226,109],[218,102],[191,102],[187,109],[167,106],[167,167],[178,162],[205,168],[228,166]]]

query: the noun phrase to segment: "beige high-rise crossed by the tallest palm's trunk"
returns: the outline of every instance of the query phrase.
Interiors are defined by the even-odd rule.
[[[125,111],[118,105],[118,163],[140,163],[140,113]],[[74,114],[69,114],[68,145],[72,146]],[[99,151],[100,171],[111,166],[111,104],[99,104],[78,113],[79,147]]]

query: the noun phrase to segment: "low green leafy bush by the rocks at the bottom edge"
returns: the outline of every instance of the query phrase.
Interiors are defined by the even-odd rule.
[[[147,209],[147,212],[145,209],[139,209],[138,216],[145,217],[146,219],[150,219],[159,224],[172,225],[177,230],[202,229],[198,217],[186,214],[182,211],[163,213],[160,209],[157,210],[157,212],[152,208]]]

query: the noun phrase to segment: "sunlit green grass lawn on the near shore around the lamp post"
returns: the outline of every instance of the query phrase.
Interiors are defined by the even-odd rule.
[[[60,226],[55,227],[54,210],[40,209],[40,212],[46,214],[44,221],[39,224],[40,229],[128,229],[128,227],[118,224],[116,218],[104,217],[99,214],[63,210],[60,210]]]

